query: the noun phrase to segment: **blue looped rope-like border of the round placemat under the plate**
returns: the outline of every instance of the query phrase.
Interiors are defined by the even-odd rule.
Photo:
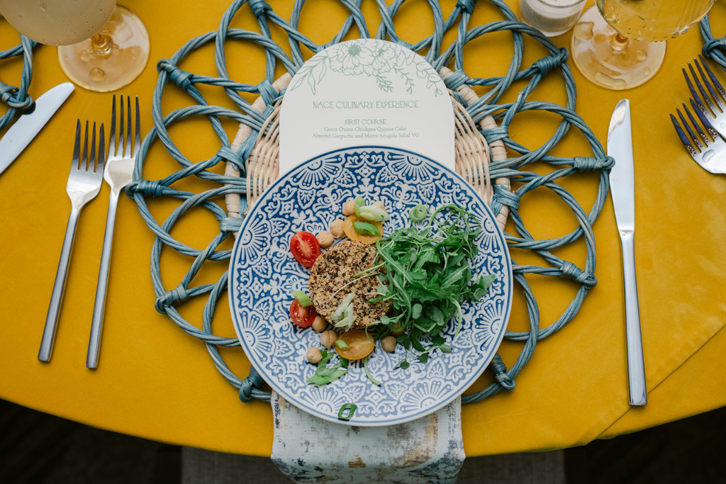
[[[534,348],[537,345],[537,340],[549,336],[563,327],[568,321],[571,321],[577,311],[579,311],[587,292],[597,284],[597,279],[595,279],[595,237],[592,233],[592,224],[597,219],[597,216],[600,215],[600,211],[605,203],[605,198],[608,194],[608,171],[613,166],[613,159],[605,155],[603,147],[595,138],[592,130],[574,112],[576,89],[574,79],[567,64],[567,50],[558,49],[539,30],[535,30],[528,25],[518,22],[516,16],[504,1],[491,1],[502,12],[506,20],[497,20],[485,25],[477,25],[476,27],[469,28],[470,16],[476,7],[475,1],[457,1],[457,5],[449,17],[444,18],[444,13],[441,12],[439,2],[429,0],[428,4],[433,12],[433,33],[431,36],[423,38],[415,44],[409,44],[406,41],[402,41],[396,35],[396,29],[393,25],[393,18],[404,3],[404,0],[393,1],[393,4],[390,6],[387,6],[384,0],[377,0],[381,22],[378,25],[378,30],[375,32],[375,38],[389,39],[415,52],[425,52],[425,58],[428,62],[431,62],[431,65],[436,70],[444,66],[453,67],[453,73],[446,78],[445,83],[454,92],[454,96],[458,95],[456,88],[460,86],[484,86],[491,88],[486,94],[481,95],[478,100],[469,105],[466,104],[460,95],[458,95],[458,98],[467,107],[469,114],[476,122],[489,115],[492,115],[494,119],[498,120],[499,126],[497,128],[481,131],[489,144],[501,140],[509,149],[510,153],[517,154],[506,160],[493,162],[489,166],[492,180],[507,177],[518,186],[513,192],[509,192],[500,186],[495,186],[492,210],[494,213],[499,213],[502,206],[506,205],[510,210],[510,218],[518,233],[518,236],[505,234],[507,244],[510,247],[534,251],[534,253],[542,257],[545,263],[543,266],[520,266],[515,264],[513,268],[514,279],[520,285],[526,301],[527,312],[529,314],[529,331],[507,331],[505,338],[513,341],[523,341],[523,349],[513,366],[508,370],[502,358],[498,355],[495,356],[489,367],[492,369],[497,382],[486,387],[481,392],[473,395],[465,395],[462,398],[464,403],[480,401],[501,390],[513,390],[515,387],[514,378],[531,358],[534,353]],[[258,20],[259,33],[229,28],[232,19],[245,3],[248,4],[252,15]],[[274,9],[264,0],[234,0],[229,9],[224,12],[219,29],[216,32],[206,33],[193,38],[182,46],[171,59],[158,62],[159,78],[152,101],[154,127],[144,139],[142,147],[139,150],[139,155],[136,157],[134,182],[126,188],[126,194],[136,201],[144,221],[146,221],[150,229],[156,234],[151,254],[151,276],[157,295],[155,302],[156,309],[166,313],[184,332],[206,343],[216,368],[219,369],[219,372],[232,385],[239,388],[240,400],[244,402],[252,401],[255,398],[269,401],[269,393],[260,389],[263,381],[254,368],[250,369],[249,376],[242,380],[229,370],[229,367],[221,358],[219,350],[217,350],[218,346],[234,347],[240,345],[237,338],[219,337],[213,335],[211,330],[211,321],[217,301],[221,299],[224,303],[227,302],[227,298],[225,297],[227,292],[227,273],[222,274],[215,284],[203,284],[197,287],[192,287],[191,285],[192,280],[206,261],[224,261],[229,259],[231,251],[221,250],[219,246],[229,237],[230,233],[239,230],[242,223],[241,218],[227,216],[225,210],[213,200],[224,197],[227,194],[243,195],[247,192],[245,160],[250,155],[250,152],[252,152],[256,135],[262,130],[264,122],[270,113],[271,105],[284,95],[284,91],[277,92],[273,87],[274,72],[278,63],[281,63],[282,67],[285,67],[289,73],[294,74],[304,62],[302,47],[309,49],[313,53],[320,52],[327,46],[340,42],[348,31],[354,28],[356,28],[360,37],[371,37],[370,30],[360,11],[361,1],[341,0],[341,4],[350,12],[346,22],[343,23],[338,34],[326,44],[315,44],[297,30],[303,3],[303,0],[295,0],[293,12],[288,21],[277,15]],[[290,55],[287,55],[279,45],[272,41],[270,36],[271,25],[275,25],[278,30],[282,29],[287,34],[290,44]],[[444,33],[449,32],[449,30],[455,31],[457,38],[441,52],[442,38],[444,37]],[[481,36],[500,31],[508,31],[513,34],[514,55],[507,68],[507,72],[501,77],[470,78],[463,68],[464,47]],[[522,54],[524,51],[523,36],[525,35],[539,41],[548,52],[546,57],[537,60],[537,62],[534,62],[529,67],[522,66]],[[234,40],[250,41],[264,48],[266,57],[266,75],[264,81],[256,84],[247,84],[233,81],[229,78],[224,46],[228,41]],[[189,73],[179,67],[180,63],[190,53],[205,44],[211,43],[215,46],[214,60],[216,63],[217,77]],[[532,91],[534,91],[539,81],[553,72],[558,72],[561,78],[563,78],[564,89],[567,94],[566,106],[563,107],[559,104],[529,100]],[[527,81],[527,83],[519,92],[515,101],[499,104],[499,99],[511,89],[513,83],[518,81]],[[166,116],[163,115],[161,112],[161,99],[168,83],[173,83],[179,86],[179,89],[186,91],[197,102],[197,105],[174,110]],[[200,85],[223,88],[229,99],[232,99],[232,102],[236,104],[238,110],[229,110],[224,107],[209,105],[199,89],[197,89],[197,86]],[[266,102],[268,109],[262,113],[253,110],[250,103],[240,93],[260,95]],[[555,133],[541,147],[529,149],[510,138],[510,125],[515,115],[525,111],[546,111],[561,118]],[[208,160],[202,160],[196,163],[192,162],[171,141],[167,126],[189,116],[205,116],[219,136],[221,146]],[[229,138],[222,128],[220,118],[229,118],[237,123],[243,123],[252,131],[252,134],[248,136],[248,139],[237,152],[230,147]],[[585,139],[587,139],[592,155],[576,156],[573,158],[549,155],[552,148],[563,139],[571,128],[579,130]],[[156,181],[146,180],[143,178],[144,163],[147,161],[147,152],[150,145],[157,139],[166,147],[171,157],[174,157],[177,163],[179,163],[181,169],[175,173],[171,173],[164,179]],[[224,164],[228,160],[240,171],[242,176],[220,175],[213,170],[217,165],[220,163]],[[534,162],[550,165],[552,171],[544,175],[526,171],[525,168]],[[597,195],[589,211],[584,210],[572,194],[558,184],[560,179],[568,176],[577,176],[579,173],[586,171],[599,172]],[[175,182],[181,181],[189,176],[197,176],[200,179],[211,181],[219,184],[219,187],[200,193],[182,192],[171,187]],[[538,240],[530,234],[519,215],[519,210],[526,195],[538,188],[550,189],[568,205],[578,222],[577,229],[563,237],[555,239]],[[147,206],[147,198],[161,196],[175,197],[181,200],[181,205],[165,221],[159,223],[150,213]],[[244,213],[246,206],[245,200],[245,197],[242,197],[240,201],[240,213]],[[203,250],[197,250],[184,245],[169,234],[174,224],[179,218],[184,216],[184,213],[199,207],[209,210],[216,217],[217,221],[219,221],[219,233],[211,239],[207,247]],[[584,239],[587,249],[584,268],[580,268],[575,263],[564,261],[552,254],[552,250],[576,242],[579,239]],[[192,265],[188,273],[171,290],[167,290],[163,286],[160,273],[160,255],[165,246],[192,258]],[[558,319],[546,327],[540,327],[537,300],[526,280],[526,274],[558,277],[578,286],[575,298],[565,311],[563,311]],[[202,328],[199,329],[194,324],[182,318],[179,312],[176,311],[176,306],[184,304],[184,301],[189,298],[202,295],[205,295],[207,300],[202,315]]]

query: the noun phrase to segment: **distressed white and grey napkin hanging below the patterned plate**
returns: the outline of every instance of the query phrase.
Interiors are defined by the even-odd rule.
[[[272,462],[296,483],[454,483],[464,464],[461,398],[388,427],[314,417],[272,392]]]

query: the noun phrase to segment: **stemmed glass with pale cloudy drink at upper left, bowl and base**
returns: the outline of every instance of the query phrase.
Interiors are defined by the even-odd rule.
[[[115,0],[0,0],[16,30],[58,47],[71,81],[113,91],[133,81],[149,60],[149,35],[134,12]]]

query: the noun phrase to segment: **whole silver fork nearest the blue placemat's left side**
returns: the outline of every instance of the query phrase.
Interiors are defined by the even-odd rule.
[[[91,337],[89,350],[86,356],[86,366],[98,366],[98,354],[101,347],[101,330],[106,305],[106,288],[108,285],[108,269],[111,262],[111,246],[113,245],[113,226],[116,220],[116,206],[121,189],[131,183],[134,171],[134,156],[141,147],[141,116],[139,115],[139,97],[136,97],[136,132],[134,134],[134,152],[131,152],[131,98],[126,97],[126,146],[123,139],[123,95],[121,96],[121,118],[118,129],[118,144],[115,143],[116,133],[116,96],[113,96],[111,109],[111,133],[108,139],[108,161],[103,172],[103,179],[111,187],[108,201],[108,216],[106,217],[106,232],[103,236],[103,252],[101,253],[101,267],[98,272],[98,285],[96,287],[96,301],[91,321]]]

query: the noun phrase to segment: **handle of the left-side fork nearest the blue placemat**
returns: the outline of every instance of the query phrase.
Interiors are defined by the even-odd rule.
[[[96,287],[96,301],[93,307],[91,320],[91,337],[89,350],[86,355],[86,367],[95,369],[98,366],[98,354],[101,349],[101,330],[103,328],[103,313],[106,308],[106,288],[108,286],[108,269],[111,263],[111,245],[113,245],[113,226],[116,221],[116,206],[118,205],[118,192],[111,190],[108,199],[108,215],[106,216],[106,231],[103,236],[103,251],[101,253],[101,267],[98,271],[98,285]]]

